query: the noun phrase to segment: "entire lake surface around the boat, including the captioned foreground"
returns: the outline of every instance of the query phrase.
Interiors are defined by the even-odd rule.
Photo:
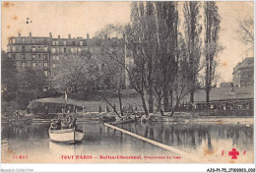
[[[78,126],[86,130],[85,139],[82,144],[67,145],[49,141],[49,123],[2,124],[2,162],[194,162],[183,155],[143,142],[95,121],[78,123]],[[253,124],[161,122],[131,123],[118,127],[210,162],[253,162]],[[232,148],[239,151],[237,159],[231,159],[228,155]],[[23,158],[19,158],[20,155]]]

